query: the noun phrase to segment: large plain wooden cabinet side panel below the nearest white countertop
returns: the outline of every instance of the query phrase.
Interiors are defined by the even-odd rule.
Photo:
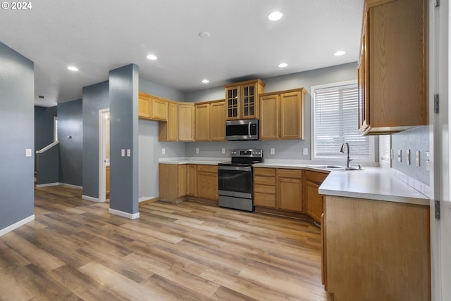
[[[330,300],[431,300],[428,205],[324,201],[323,281]]]

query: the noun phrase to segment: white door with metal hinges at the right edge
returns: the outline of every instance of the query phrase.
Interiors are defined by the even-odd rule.
[[[450,162],[451,105],[448,105],[451,41],[447,0],[428,1],[429,16],[429,120],[431,124],[431,280],[432,300],[451,300],[451,202]],[[440,99],[439,113],[434,113],[434,94]],[[440,200],[440,219],[435,219],[434,200]]]

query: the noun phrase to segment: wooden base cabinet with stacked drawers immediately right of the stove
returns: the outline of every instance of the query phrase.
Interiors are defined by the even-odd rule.
[[[276,209],[276,169],[254,168],[254,206]]]

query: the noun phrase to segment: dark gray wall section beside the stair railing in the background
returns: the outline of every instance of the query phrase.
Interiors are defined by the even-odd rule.
[[[82,99],[58,104],[59,181],[75,186],[83,184],[82,105]]]

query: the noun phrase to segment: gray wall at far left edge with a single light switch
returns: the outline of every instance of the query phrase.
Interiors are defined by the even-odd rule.
[[[0,230],[34,212],[33,62],[0,42]]]

